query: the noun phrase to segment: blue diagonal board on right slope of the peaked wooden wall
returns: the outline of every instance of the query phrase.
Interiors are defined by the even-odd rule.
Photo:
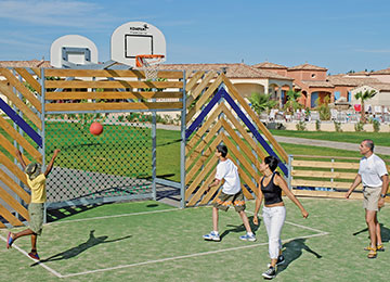
[[[238,117],[244,121],[244,124],[249,128],[249,130],[252,132],[255,138],[260,142],[260,144],[265,149],[266,153],[270,155],[273,155],[280,159],[280,157],[276,155],[276,153],[272,150],[272,148],[266,143],[266,141],[261,137],[259,131],[256,129],[256,127],[250,123],[250,120],[246,117],[246,115],[240,111],[238,105],[234,102],[234,100],[230,97],[230,94],[224,90],[223,88],[220,90],[222,93],[222,97],[226,100],[226,102],[231,105],[231,107],[236,112]],[[285,174],[285,176],[288,176],[288,169],[285,166],[285,164],[280,159],[278,167],[282,169],[282,171]]]

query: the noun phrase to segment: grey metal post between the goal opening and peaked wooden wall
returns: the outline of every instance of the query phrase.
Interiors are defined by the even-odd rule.
[[[181,143],[180,143],[180,208],[185,207],[185,119],[186,119],[186,80],[185,70],[183,70],[183,107],[181,114]]]

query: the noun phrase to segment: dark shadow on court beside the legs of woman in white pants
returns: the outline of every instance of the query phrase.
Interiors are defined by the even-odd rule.
[[[316,258],[322,258],[322,255],[312,251],[307,244],[304,244],[306,239],[296,239],[283,244],[285,251],[283,251],[283,255],[285,257],[285,262],[281,266],[277,266],[277,272],[284,271],[289,264],[294,260],[298,259],[303,251],[313,254]]]

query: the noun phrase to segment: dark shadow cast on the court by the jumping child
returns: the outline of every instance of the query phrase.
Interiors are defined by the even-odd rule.
[[[74,258],[74,257],[80,255],[82,252],[84,252],[84,251],[87,251],[87,249],[89,249],[91,247],[94,247],[96,245],[106,244],[106,243],[113,243],[113,242],[129,239],[131,236],[132,235],[127,235],[127,236],[123,236],[123,238],[118,238],[118,239],[114,239],[114,240],[107,240],[108,236],[98,236],[98,238],[95,238],[94,236],[94,230],[91,230],[90,234],[89,234],[89,239],[87,240],[87,242],[84,242],[82,244],[79,244],[78,246],[72,247],[72,248],[69,248],[69,249],[67,249],[65,252],[53,255],[53,256],[51,256],[49,258],[41,259],[40,261],[32,264],[31,267],[35,267],[35,266],[39,265],[40,262],[50,262],[50,261],[62,260],[62,259],[70,259],[70,258]]]

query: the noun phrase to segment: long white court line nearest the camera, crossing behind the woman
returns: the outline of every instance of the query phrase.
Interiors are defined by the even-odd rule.
[[[290,238],[290,239],[283,240],[282,242],[285,243],[285,242],[289,242],[289,241],[297,240],[297,239],[308,239],[308,238],[323,236],[323,235],[326,235],[326,234],[325,233],[317,233],[317,234],[306,235],[306,236]],[[152,265],[152,264],[158,264],[158,262],[165,262],[165,261],[178,260],[178,259],[184,259],[184,258],[207,256],[207,255],[212,255],[212,254],[218,254],[218,253],[223,253],[223,252],[237,251],[237,249],[243,249],[243,248],[252,248],[252,247],[262,246],[262,245],[268,245],[268,242],[259,243],[259,244],[251,244],[251,245],[246,245],[246,246],[240,246],[240,247],[230,247],[230,248],[223,248],[223,249],[217,249],[217,251],[210,251],[210,252],[184,255],[184,256],[167,257],[167,258],[161,258],[161,259],[147,260],[147,261],[143,261],[143,262],[136,262],[136,264],[123,265],[123,266],[117,266],[117,267],[110,267],[110,268],[102,268],[102,269],[89,270],[89,271],[83,271],[83,272],[65,274],[65,275],[63,275],[63,278],[78,277],[78,275],[91,274],[91,273],[96,273],[96,272],[104,272],[104,271],[110,271],[110,270],[122,269],[122,268],[145,266],[145,265]]]

